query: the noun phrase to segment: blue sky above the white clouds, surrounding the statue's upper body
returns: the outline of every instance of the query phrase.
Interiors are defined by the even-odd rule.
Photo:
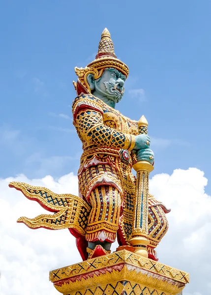
[[[210,0],[1,1],[0,177],[77,173],[74,67],[105,27],[130,69],[117,109],[149,121],[151,175],[197,167],[211,179]]]

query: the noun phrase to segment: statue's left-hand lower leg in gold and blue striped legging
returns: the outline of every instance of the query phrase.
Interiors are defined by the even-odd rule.
[[[111,185],[100,185],[91,191],[89,201],[92,207],[86,230],[89,248],[101,245],[109,251],[117,235],[121,193]]]

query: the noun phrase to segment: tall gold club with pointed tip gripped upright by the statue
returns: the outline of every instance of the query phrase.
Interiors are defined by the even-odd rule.
[[[144,116],[138,121],[140,134],[147,134],[148,121]],[[149,174],[154,169],[147,161],[139,161],[133,165],[137,172],[136,200],[134,203],[133,231],[130,244],[135,247],[135,253],[148,257],[148,215],[149,215]]]

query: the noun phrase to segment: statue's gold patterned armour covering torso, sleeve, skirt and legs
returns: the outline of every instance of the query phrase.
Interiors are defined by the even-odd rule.
[[[118,232],[119,243],[129,244],[136,182],[131,173],[136,158],[131,150],[138,134],[137,121],[124,117],[92,94],[77,97],[72,111],[84,150],[78,172],[79,195],[91,207],[86,240],[114,242]],[[126,163],[121,150],[128,154]],[[168,229],[163,209],[168,210],[153,196],[149,202],[148,250],[156,257],[153,249]]]

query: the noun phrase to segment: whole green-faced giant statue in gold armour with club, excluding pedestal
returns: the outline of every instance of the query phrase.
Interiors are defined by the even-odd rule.
[[[55,194],[43,187],[11,182],[24,195],[54,214],[19,218],[30,228],[68,228],[83,260],[110,253],[116,240],[127,249],[157,260],[154,248],[168,230],[168,210],[149,193],[154,154],[148,123],[116,110],[129,69],[117,59],[110,33],[104,29],[96,58],[75,68],[77,97],[73,124],[83,145],[78,171],[79,196]],[[137,171],[135,177],[131,170]]]

